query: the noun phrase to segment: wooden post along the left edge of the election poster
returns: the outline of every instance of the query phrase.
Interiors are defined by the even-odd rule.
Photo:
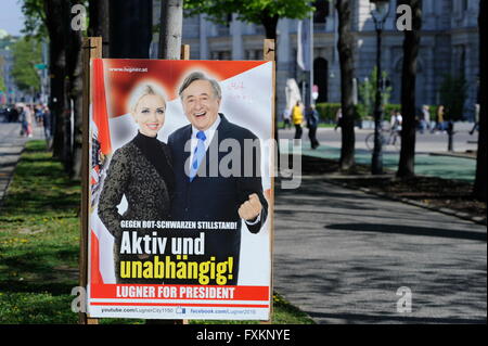
[[[79,244],[79,286],[87,289],[88,284],[88,215],[90,205],[90,192],[88,177],[90,176],[89,165],[89,140],[90,120],[89,110],[91,103],[90,93],[90,59],[102,57],[102,38],[87,37],[82,42],[82,64],[84,64],[84,104],[82,104],[82,154],[81,154],[81,229]],[[85,302],[86,303],[86,302]],[[98,324],[98,319],[87,317],[86,312],[79,312],[78,323]]]

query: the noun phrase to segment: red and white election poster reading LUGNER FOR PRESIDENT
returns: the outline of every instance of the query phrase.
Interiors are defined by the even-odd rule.
[[[89,317],[269,320],[272,78],[91,60]]]

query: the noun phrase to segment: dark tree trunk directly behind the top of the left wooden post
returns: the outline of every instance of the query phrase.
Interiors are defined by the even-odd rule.
[[[90,27],[88,35],[90,37],[102,38],[102,56],[110,57],[110,8],[108,0],[90,0]]]

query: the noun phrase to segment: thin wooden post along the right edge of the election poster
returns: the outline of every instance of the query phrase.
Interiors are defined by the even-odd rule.
[[[273,92],[271,94],[271,116],[272,116],[272,130],[271,130],[271,139],[274,141],[277,140],[274,138],[274,124],[275,124],[275,93],[277,93],[277,63],[274,61],[275,57],[275,42],[273,39],[265,39],[264,46],[262,46],[262,52],[264,52],[264,60],[267,61],[272,61],[273,62],[273,67],[272,67],[272,88],[273,88]],[[278,145],[278,143],[275,143],[275,145]],[[272,157],[271,157],[271,162],[273,163],[273,165],[278,162],[274,157],[274,152],[272,152]],[[273,315],[273,241],[274,241],[274,220],[273,220],[273,215],[274,215],[274,171],[278,171],[277,169],[272,169],[271,170],[271,194],[269,196],[269,205],[270,205],[270,213],[269,215],[271,215],[271,219],[270,219],[270,223],[269,223],[269,232],[270,232],[270,244],[269,244],[269,252],[270,252],[270,261],[271,261],[271,281],[270,281],[270,291],[271,291],[271,297],[270,297],[270,310],[269,310],[269,321],[265,321],[264,323],[272,323],[272,315]]]

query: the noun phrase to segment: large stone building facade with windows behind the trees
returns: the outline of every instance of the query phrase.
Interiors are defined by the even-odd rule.
[[[358,82],[375,66],[376,33],[369,0],[351,1],[352,34],[356,37],[355,73]],[[339,102],[341,79],[337,44],[337,13],[334,1],[317,0],[313,15],[313,84],[319,87],[318,102]],[[154,23],[159,15],[159,1],[154,1]],[[393,91],[391,103],[400,103],[403,33],[396,28],[397,0],[390,0],[382,44],[382,66],[387,72]],[[423,0],[423,27],[418,62],[416,102],[438,104],[439,88],[446,75],[459,76],[467,82],[465,118],[473,116],[478,93],[479,0]],[[282,18],[278,24],[277,95],[281,112],[285,104],[285,81],[299,80],[297,66],[298,21]],[[183,43],[191,46],[191,59],[260,60],[264,28],[242,23],[235,15],[227,25],[214,24],[205,15],[185,17]],[[155,35],[154,42],[157,41]],[[157,44],[157,43],[156,43]]]

